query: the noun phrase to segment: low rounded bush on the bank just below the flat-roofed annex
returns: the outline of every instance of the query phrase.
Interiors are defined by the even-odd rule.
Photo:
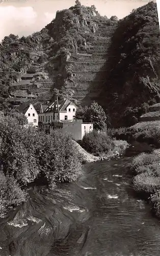
[[[97,131],[86,133],[81,145],[86,151],[97,156],[106,154],[115,147],[113,140],[109,136]]]

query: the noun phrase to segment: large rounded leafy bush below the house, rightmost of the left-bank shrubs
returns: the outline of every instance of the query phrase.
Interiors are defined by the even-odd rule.
[[[48,182],[75,180],[77,172],[81,169],[81,163],[69,136],[54,131],[41,137],[39,147],[39,168]]]

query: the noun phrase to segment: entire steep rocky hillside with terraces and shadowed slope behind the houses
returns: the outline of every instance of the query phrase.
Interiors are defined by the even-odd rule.
[[[2,108],[5,103],[46,104],[56,87],[77,104],[98,101],[112,126],[129,126],[148,104],[160,101],[153,2],[118,20],[76,1],[40,32],[26,38],[11,35],[0,47]]]

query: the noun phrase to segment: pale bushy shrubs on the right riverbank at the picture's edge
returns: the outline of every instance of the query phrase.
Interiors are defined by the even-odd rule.
[[[132,161],[135,177],[132,179],[134,189],[140,193],[150,194],[155,214],[160,216],[160,154],[159,150],[153,153],[142,153]]]

